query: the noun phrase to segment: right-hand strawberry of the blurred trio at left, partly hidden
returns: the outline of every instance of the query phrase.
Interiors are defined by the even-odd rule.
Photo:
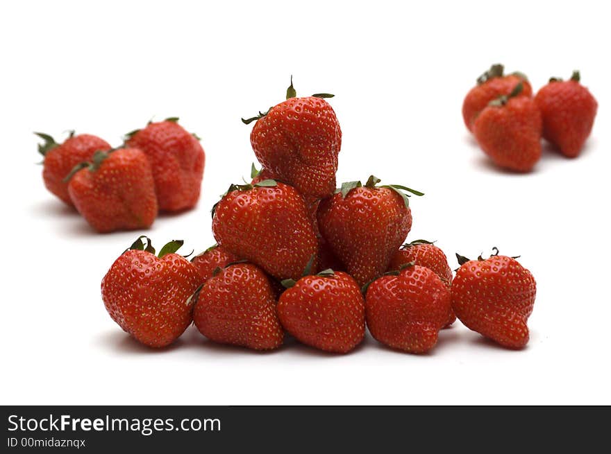
[[[160,210],[181,211],[195,206],[206,155],[199,138],[179,125],[177,118],[130,132],[126,145],[140,148],[149,157]]]

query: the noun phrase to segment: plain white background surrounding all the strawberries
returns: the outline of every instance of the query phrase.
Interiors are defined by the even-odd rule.
[[[604,3],[424,3],[3,3],[1,403],[611,403]],[[546,150],[529,175],[489,165],[460,109],[495,62],[534,89],[581,70],[599,101],[581,157]],[[213,243],[210,207],[254,159],[240,117],[282,101],[291,74],[298,94],[336,95],[338,182],[374,173],[426,192],[410,238],[437,240],[452,268],[454,252],[521,254],[538,284],[526,350],[458,322],[424,356],[371,338],[347,356],[294,341],[255,353],[194,329],[151,351],[110,320],[101,278],[140,232],[95,234],[53,198],[32,131],[117,145],[153,115],[180,116],[206,149],[202,197],[147,234],[199,252]]]

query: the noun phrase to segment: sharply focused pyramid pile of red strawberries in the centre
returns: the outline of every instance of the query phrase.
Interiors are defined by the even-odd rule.
[[[261,171],[232,184],[212,209],[217,245],[191,261],[171,241],[156,255],[141,236],[103,278],[103,302],[126,332],[151,347],[174,342],[192,322],[209,340],[276,349],[285,333],[347,353],[365,329],[379,342],[424,353],[458,317],[510,348],[528,342],[535,280],[498,250],[453,277],[428,241],[403,245],[412,227],[399,185],[347,182],[335,189],[342,143],[333,108],[317,94],[260,112],[251,144]],[[254,168],[254,166],[253,166]]]

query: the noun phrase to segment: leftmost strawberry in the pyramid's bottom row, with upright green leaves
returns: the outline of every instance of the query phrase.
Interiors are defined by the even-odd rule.
[[[201,279],[187,259],[174,254],[182,244],[171,241],[156,256],[149,238],[140,236],[102,279],[102,299],[112,320],[149,347],[171,344],[192,320],[191,296]]]

